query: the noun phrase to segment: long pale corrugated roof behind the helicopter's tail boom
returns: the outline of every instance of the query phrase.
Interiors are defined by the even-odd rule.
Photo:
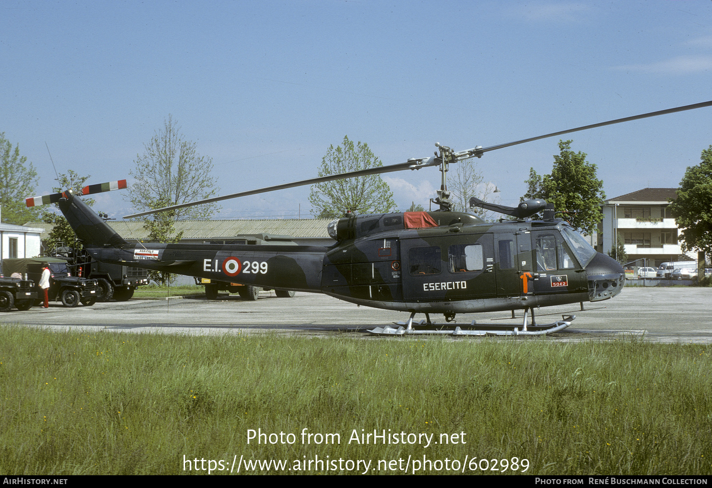
[[[206,239],[242,234],[281,234],[292,237],[329,237],[326,226],[330,219],[258,219],[258,220],[179,220],[176,232],[183,232],[184,239]],[[108,222],[124,239],[146,239],[148,232],[143,222],[120,220]],[[41,227],[44,239],[53,229],[52,224],[30,222],[30,227]]]

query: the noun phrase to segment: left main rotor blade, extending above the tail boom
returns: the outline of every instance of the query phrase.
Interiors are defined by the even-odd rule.
[[[371,167],[366,170],[358,170],[347,173],[339,173],[337,175],[329,175],[318,178],[312,178],[310,180],[302,180],[293,183],[285,183],[284,185],[275,185],[273,187],[260,188],[259,190],[249,190],[248,192],[239,192],[229,195],[223,195],[222,197],[206,198],[204,200],[197,200],[196,202],[183,203],[179,205],[172,205],[171,207],[164,207],[162,209],[150,210],[148,212],[141,212],[140,214],[132,214],[124,217],[125,219],[132,219],[133,217],[142,217],[143,215],[155,214],[157,212],[165,212],[167,210],[182,209],[185,207],[192,207],[193,205],[199,205],[204,203],[220,202],[221,200],[237,198],[237,197],[247,197],[248,195],[274,192],[276,190],[286,190],[287,188],[303,187],[305,185],[315,185],[317,183],[323,183],[333,180],[342,180],[346,178],[355,178],[359,176],[368,175],[380,175],[381,173],[389,173],[394,171],[402,170],[419,170],[426,166],[436,166],[440,164],[440,160],[437,157],[422,158],[419,160],[408,160],[406,162],[400,162],[397,165],[389,166],[377,166]]]

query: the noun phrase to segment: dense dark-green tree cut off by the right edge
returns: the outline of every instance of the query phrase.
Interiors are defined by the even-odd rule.
[[[688,167],[669,209],[675,216],[684,251],[694,248],[712,256],[712,145],[699,165]]]

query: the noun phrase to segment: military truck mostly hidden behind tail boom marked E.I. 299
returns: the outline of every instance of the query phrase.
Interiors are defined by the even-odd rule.
[[[297,246],[291,236],[282,236],[278,234],[244,234],[234,237],[214,237],[204,244],[241,244],[241,245],[276,245],[276,246]],[[229,281],[216,281],[207,278],[195,277],[195,284],[205,286],[205,298],[208,300],[217,300],[220,291],[239,294],[245,300],[254,301],[260,296],[260,287],[252,285],[243,285],[239,283],[230,283]],[[263,290],[269,291],[270,288]],[[274,293],[280,298],[291,298],[295,292],[291,290],[275,290]]]

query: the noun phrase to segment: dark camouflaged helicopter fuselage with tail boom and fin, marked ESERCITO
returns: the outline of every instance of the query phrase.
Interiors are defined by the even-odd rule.
[[[409,228],[408,214],[382,214],[334,222],[337,242],[328,247],[131,244],[80,199],[70,199],[60,207],[97,261],[323,293],[376,308],[515,310],[611,298],[624,284],[617,261],[560,220],[486,223],[460,212],[409,212],[429,222],[411,225],[430,227]]]

